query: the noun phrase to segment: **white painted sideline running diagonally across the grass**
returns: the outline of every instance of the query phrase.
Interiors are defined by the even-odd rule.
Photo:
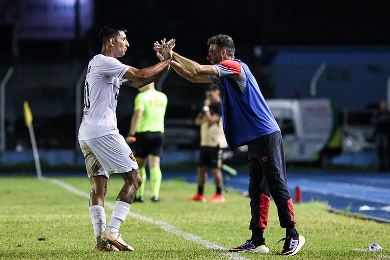
[[[40,180],[44,180],[44,181],[47,181],[47,182],[50,182],[50,183],[53,183],[53,184],[56,184],[56,185],[59,185],[61,186],[62,188],[64,188],[65,190],[67,191],[70,191],[74,194],[77,194],[81,197],[84,197],[84,198],[87,198],[89,199],[89,194],[86,193],[86,192],[83,192],[75,187],[73,187],[72,185],[70,184],[67,184],[61,180],[56,180],[56,179],[48,179],[46,177],[43,177],[42,179]],[[105,207],[108,207],[110,208],[111,210],[114,209],[115,207],[115,204],[112,203],[112,202],[104,202],[104,206]],[[218,244],[215,244],[213,242],[210,242],[210,241],[207,241],[207,240],[204,240],[202,239],[201,237],[198,237],[198,236],[195,236],[195,235],[192,235],[192,234],[189,234],[187,232],[184,232],[184,231],[181,231],[179,229],[177,229],[176,227],[164,222],[164,221],[159,221],[159,220],[153,220],[151,218],[148,218],[144,215],[140,215],[140,214],[137,214],[137,213],[132,213],[132,212],[129,212],[128,215],[130,215],[131,217],[133,218],[137,218],[139,220],[144,220],[145,222],[148,222],[148,223],[151,223],[151,224],[154,224],[158,227],[160,227],[161,229],[165,230],[166,232],[169,232],[169,233],[172,233],[172,234],[175,234],[175,235],[178,235],[179,237],[182,237],[186,240],[189,240],[189,241],[193,241],[193,242],[196,242],[198,244],[201,244],[203,245],[204,247],[206,248],[210,248],[210,249],[216,249],[216,250],[226,250],[227,249],[221,245],[218,245]],[[248,260],[246,259],[245,257],[242,257],[240,255],[238,255],[237,253],[229,253],[229,252],[222,252],[222,254],[224,255],[224,257],[226,257],[227,259],[232,259],[232,260]],[[239,253],[240,254],[240,253]]]

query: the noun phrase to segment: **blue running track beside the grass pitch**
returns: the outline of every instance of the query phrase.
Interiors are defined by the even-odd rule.
[[[185,180],[196,182],[194,172],[185,176]],[[248,180],[246,172],[239,172],[236,177],[228,178],[226,187],[247,194]],[[358,213],[368,219],[390,223],[389,173],[287,171],[287,182],[294,201],[295,188],[299,187],[302,202],[324,201],[330,211]]]

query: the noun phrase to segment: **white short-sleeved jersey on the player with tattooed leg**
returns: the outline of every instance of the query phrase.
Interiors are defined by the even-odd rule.
[[[115,114],[122,77],[129,66],[98,54],[88,63],[79,140],[119,133]]]

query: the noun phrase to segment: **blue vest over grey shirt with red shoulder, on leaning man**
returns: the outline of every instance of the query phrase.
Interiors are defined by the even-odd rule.
[[[213,66],[219,76],[208,78],[222,83],[222,120],[230,149],[280,131],[256,79],[244,62],[223,60]]]

